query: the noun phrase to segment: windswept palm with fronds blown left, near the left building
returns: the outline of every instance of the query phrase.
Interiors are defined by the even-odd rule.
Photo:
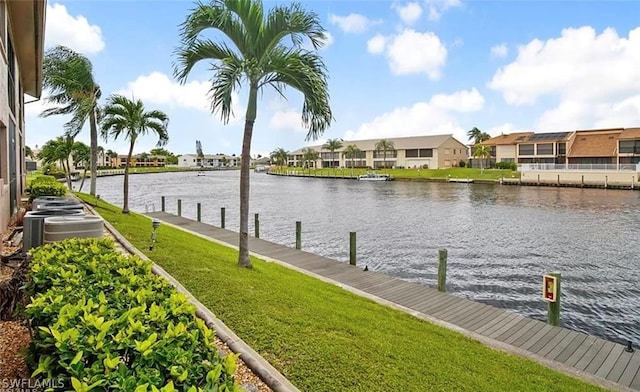
[[[93,65],[88,58],[65,46],[53,47],[45,53],[42,64],[42,84],[49,90],[47,101],[56,107],[43,111],[48,117],[71,114],[65,124],[65,133],[75,137],[89,120],[91,138],[91,187],[96,194],[98,163],[98,121],[100,111],[100,86],[93,77]]]

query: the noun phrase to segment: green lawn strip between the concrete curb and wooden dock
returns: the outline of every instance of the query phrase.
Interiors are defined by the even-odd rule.
[[[79,195],[94,204],[88,195]],[[303,391],[597,391],[275,263],[99,202],[97,211]]]

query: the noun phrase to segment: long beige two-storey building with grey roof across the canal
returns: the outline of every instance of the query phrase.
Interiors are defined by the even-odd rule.
[[[304,166],[304,149],[311,148],[319,153],[320,159],[310,162],[312,167],[351,167],[352,159],[344,154],[345,148],[356,145],[362,152],[354,157],[354,167],[370,167],[379,169],[386,167],[428,167],[440,169],[455,167],[467,160],[467,146],[452,135],[430,135],[387,138],[393,143],[391,151],[376,150],[381,139],[345,140],[342,148],[334,152],[322,145],[300,148],[289,154],[289,166]]]

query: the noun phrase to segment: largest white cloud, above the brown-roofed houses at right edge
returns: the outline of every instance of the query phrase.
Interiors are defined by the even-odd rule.
[[[489,87],[510,105],[558,100],[538,118],[537,131],[625,127],[640,123],[640,27],[619,36],[590,26],[532,40],[500,68]]]

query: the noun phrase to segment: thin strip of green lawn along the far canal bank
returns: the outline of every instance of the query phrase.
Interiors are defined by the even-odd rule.
[[[301,175],[311,176],[351,176],[351,169],[301,169],[285,167],[276,169],[275,172],[297,171]],[[387,173],[397,180],[416,180],[416,179],[445,179],[445,178],[472,178],[474,180],[499,180],[505,178],[520,178],[520,172],[501,169],[472,169],[466,167],[452,167],[448,169],[380,169],[377,173]],[[366,169],[354,169],[353,175],[367,173]]]

